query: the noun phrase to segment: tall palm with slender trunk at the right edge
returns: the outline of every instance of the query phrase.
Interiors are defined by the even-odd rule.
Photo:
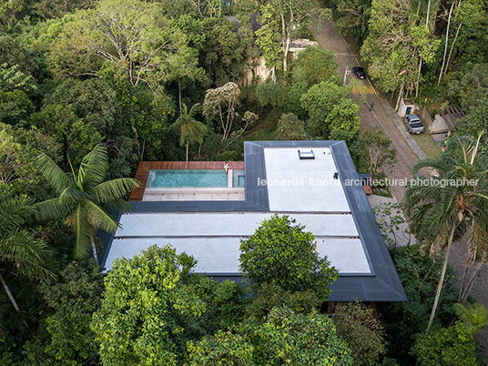
[[[453,137],[447,142],[440,158],[425,159],[413,167],[414,173],[422,168],[432,168],[437,176],[429,182],[420,180],[418,183],[423,184],[411,186],[406,191],[405,213],[412,232],[422,240],[424,251],[434,256],[445,249],[427,331],[432,327],[441,296],[452,242],[460,239],[468,230],[471,246],[476,246],[487,237],[488,160],[486,154],[480,152],[479,143],[480,137],[477,140],[473,137]],[[452,179],[455,184],[452,184]],[[476,184],[469,183],[472,179]],[[458,184],[460,181],[463,184]]]

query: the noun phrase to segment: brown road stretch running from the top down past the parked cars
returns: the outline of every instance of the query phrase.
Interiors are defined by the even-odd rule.
[[[339,65],[338,72],[342,78],[344,78],[347,68],[351,70],[353,66],[359,66],[359,62],[356,59],[356,56],[352,53],[351,48],[342,36],[336,32],[335,27],[330,20],[325,20],[321,26],[313,26],[312,33],[321,46],[335,52],[335,58]],[[394,110],[390,107],[388,102],[381,100],[377,96],[368,80],[352,78],[352,75],[350,74],[346,76],[346,82],[349,83],[350,81],[357,83],[360,86],[359,88],[354,88],[351,97],[353,97],[358,103],[358,106],[360,106],[359,116],[361,117],[361,128],[369,128],[372,130],[375,126],[380,127],[386,136],[391,137],[393,147],[398,150],[396,164],[385,169],[388,177],[399,180],[412,178],[412,167],[419,161],[419,155],[417,153],[419,153],[420,149],[417,153],[413,151],[406,139],[412,137],[408,136],[406,130],[401,126],[402,122],[399,118],[393,118],[395,116]],[[371,103],[374,103],[372,112],[369,109]],[[399,129],[399,127],[403,129]],[[402,132],[404,132],[407,137],[404,137]],[[420,154],[422,154],[422,152],[420,152]],[[402,201],[405,188],[402,186],[391,187],[391,193],[397,201]]]

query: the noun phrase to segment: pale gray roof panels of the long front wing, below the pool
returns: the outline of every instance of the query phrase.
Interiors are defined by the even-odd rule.
[[[271,213],[159,212],[124,214],[107,257],[131,258],[153,244],[171,244],[198,259],[197,272],[238,273],[239,241],[249,238]],[[317,239],[320,256],[327,256],[341,273],[370,274],[371,268],[351,215],[290,214]]]

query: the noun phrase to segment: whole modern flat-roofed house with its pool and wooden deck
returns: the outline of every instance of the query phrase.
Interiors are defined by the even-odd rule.
[[[244,143],[244,162],[141,162],[133,209],[107,240],[102,265],[171,244],[197,272],[239,280],[240,239],[286,214],[339,270],[329,301],[402,301],[402,283],[343,141]],[[226,167],[227,168],[227,167]]]

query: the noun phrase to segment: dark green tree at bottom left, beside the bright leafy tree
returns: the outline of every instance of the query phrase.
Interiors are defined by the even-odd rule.
[[[93,312],[100,307],[103,274],[93,259],[85,265],[72,262],[60,272],[58,282],[40,288],[46,309],[46,329],[24,347],[26,360],[36,364],[97,363],[98,345],[90,330]]]

